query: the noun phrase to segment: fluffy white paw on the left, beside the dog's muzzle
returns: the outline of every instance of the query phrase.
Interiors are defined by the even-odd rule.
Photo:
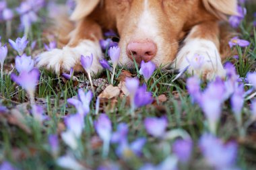
[[[81,55],[86,56],[91,53],[94,56],[91,73],[98,73],[102,70],[99,63],[100,58],[102,58],[102,50],[98,42],[90,40],[84,40],[73,48],[65,46],[63,49],[42,52],[36,57],[37,67],[46,67],[55,73],[70,71],[75,65],[80,65]]]

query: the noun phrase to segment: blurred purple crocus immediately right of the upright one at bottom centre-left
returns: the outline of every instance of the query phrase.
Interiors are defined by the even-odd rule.
[[[129,132],[129,128],[127,124],[120,123],[117,125],[117,131],[112,134],[111,142],[118,143],[121,140],[127,138],[127,134]]]

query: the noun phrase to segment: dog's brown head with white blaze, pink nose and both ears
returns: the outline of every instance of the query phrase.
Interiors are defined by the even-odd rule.
[[[71,19],[94,13],[111,18],[119,32],[122,65],[133,58],[166,65],[174,60],[179,42],[201,22],[236,13],[236,0],[77,0]],[[104,11],[104,14],[100,14]],[[98,14],[97,14],[98,13]]]

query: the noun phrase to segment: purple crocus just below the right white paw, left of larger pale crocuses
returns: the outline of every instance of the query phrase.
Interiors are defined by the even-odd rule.
[[[201,81],[198,77],[189,77],[189,79],[187,79],[187,91],[191,96],[192,103],[195,101],[198,102],[201,97],[200,83]]]

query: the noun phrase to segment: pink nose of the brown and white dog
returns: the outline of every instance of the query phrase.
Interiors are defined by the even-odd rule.
[[[127,46],[127,55],[131,60],[135,58],[139,64],[141,60],[148,62],[156,56],[156,44],[152,41],[130,42]]]

